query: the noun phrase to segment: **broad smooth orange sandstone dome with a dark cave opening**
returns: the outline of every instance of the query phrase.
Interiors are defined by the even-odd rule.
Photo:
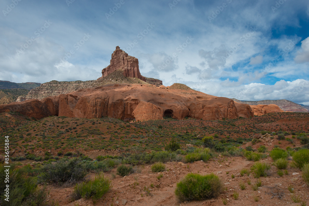
[[[251,117],[249,105],[235,105],[224,97],[215,97],[195,90],[171,89],[141,84],[113,84],[80,89],[42,100],[0,105],[0,112],[20,113],[43,118],[67,116],[100,118],[108,116],[121,120],[157,120],[171,116],[182,120],[192,117],[203,120]],[[239,109],[241,108],[241,110]]]

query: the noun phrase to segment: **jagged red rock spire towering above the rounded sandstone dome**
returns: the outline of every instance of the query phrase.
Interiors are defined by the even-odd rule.
[[[139,72],[138,59],[129,56],[125,53],[125,51],[121,50],[119,46],[117,46],[114,53],[112,53],[110,63],[111,64],[108,67],[102,70],[101,78],[106,77],[108,74],[111,74],[118,69],[121,69],[125,77],[136,77],[146,82],[146,78]]]

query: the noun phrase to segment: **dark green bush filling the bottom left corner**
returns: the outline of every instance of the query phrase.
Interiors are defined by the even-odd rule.
[[[0,205],[42,205],[47,198],[45,188],[37,187],[34,177],[27,177],[22,168],[16,168],[15,164],[11,164],[9,170],[9,197],[10,201],[6,201],[5,195],[5,167],[0,164]],[[7,183],[8,184],[8,183]]]

